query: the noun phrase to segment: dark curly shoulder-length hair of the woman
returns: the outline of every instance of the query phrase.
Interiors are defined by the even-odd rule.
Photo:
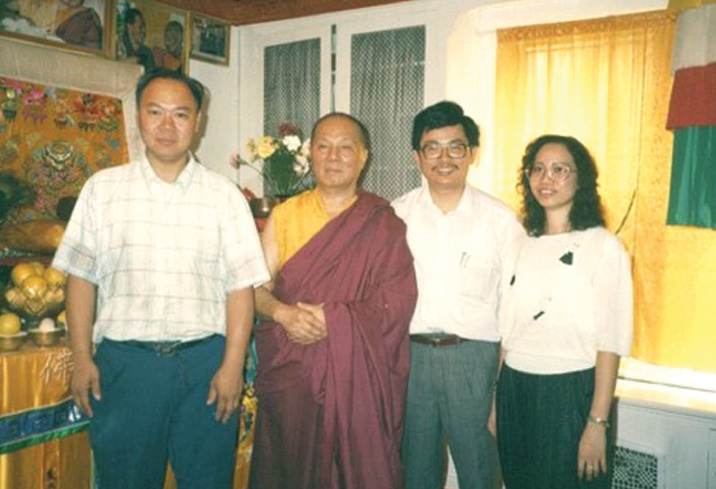
[[[522,194],[522,224],[530,236],[542,236],[546,230],[544,208],[537,202],[530,188],[528,171],[535,163],[537,153],[545,144],[561,144],[577,166],[577,191],[569,211],[569,223],[573,230],[604,226],[604,211],[597,191],[597,165],[589,150],[571,136],[545,134],[525,148],[518,176],[517,190]]]

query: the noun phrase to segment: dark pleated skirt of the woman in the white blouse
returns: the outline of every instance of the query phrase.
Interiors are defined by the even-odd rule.
[[[594,368],[537,375],[503,365],[497,386],[497,445],[507,489],[609,488],[608,475],[590,482],[577,477],[579,440],[593,396]],[[607,452],[611,471],[613,457],[609,448]]]

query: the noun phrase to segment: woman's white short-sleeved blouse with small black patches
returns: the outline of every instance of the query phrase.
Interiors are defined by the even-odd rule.
[[[593,367],[597,352],[628,356],[633,330],[629,256],[604,229],[527,237],[502,304],[510,367],[555,374]]]

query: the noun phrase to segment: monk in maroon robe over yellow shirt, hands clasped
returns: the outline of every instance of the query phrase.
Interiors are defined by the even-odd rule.
[[[317,189],[275,209],[267,223],[274,279],[256,291],[257,310],[269,319],[255,330],[253,489],[403,487],[417,289],[402,221],[388,202],[357,191],[367,155],[360,122],[345,114],[319,120],[311,138]],[[286,208],[295,209],[291,219]],[[327,222],[281,263],[282,227],[307,212],[325,212]]]

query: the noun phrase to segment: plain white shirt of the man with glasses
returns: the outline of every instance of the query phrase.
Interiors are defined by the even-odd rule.
[[[499,341],[497,311],[505,270],[524,230],[502,202],[467,186],[443,213],[427,185],[392,203],[408,227],[418,303],[410,333],[445,332]]]

